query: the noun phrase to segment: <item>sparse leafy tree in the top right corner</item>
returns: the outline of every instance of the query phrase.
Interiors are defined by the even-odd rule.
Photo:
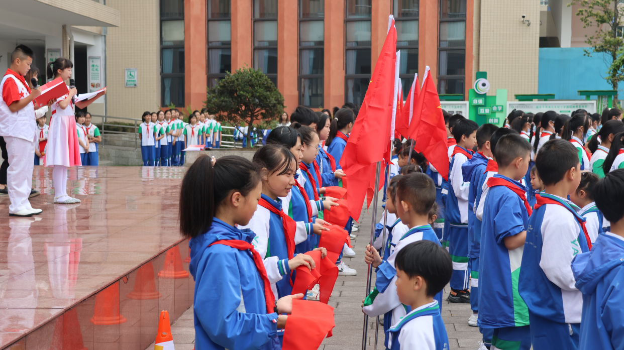
[[[618,84],[624,80],[624,60],[622,57],[622,32],[621,28],[623,9],[619,4],[622,0],[574,0],[568,6],[578,4],[582,6],[577,11],[577,16],[583,22],[583,28],[596,26],[596,32],[592,36],[585,36],[585,42],[592,47],[593,52],[604,53],[611,57],[607,70],[607,82],[613,90],[618,90]],[[585,49],[585,56],[591,56],[592,52]],[[615,96],[617,99],[617,96]]]

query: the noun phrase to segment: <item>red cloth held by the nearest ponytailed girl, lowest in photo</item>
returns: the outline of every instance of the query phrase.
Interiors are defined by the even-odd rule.
[[[306,300],[293,300],[293,313],[286,321],[282,350],[316,350],[331,337],[334,308]]]

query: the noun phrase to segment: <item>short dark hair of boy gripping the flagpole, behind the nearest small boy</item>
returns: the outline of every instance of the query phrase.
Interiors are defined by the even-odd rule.
[[[397,199],[409,203],[417,214],[427,215],[436,202],[436,184],[429,175],[411,173],[399,180]]]

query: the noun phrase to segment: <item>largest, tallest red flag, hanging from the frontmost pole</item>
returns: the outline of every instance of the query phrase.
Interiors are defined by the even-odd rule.
[[[349,215],[356,221],[362,210],[371,173],[375,176],[375,163],[383,160],[384,153],[390,147],[391,115],[396,102],[393,79],[395,61],[396,28],[394,17],[390,16],[386,41],[340,161],[344,173],[349,176]]]

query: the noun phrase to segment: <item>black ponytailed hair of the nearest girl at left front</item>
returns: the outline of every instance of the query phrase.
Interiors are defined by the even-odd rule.
[[[180,189],[180,231],[194,238],[210,230],[212,218],[223,200],[233,192],[247,196],[260,183],[255,165],[238,155],[218,158],[200,155],[188,167]]]

